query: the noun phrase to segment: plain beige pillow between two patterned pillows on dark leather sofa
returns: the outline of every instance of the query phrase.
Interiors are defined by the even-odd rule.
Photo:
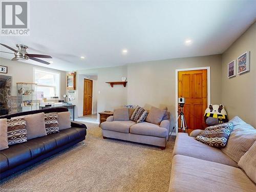
[[[45,113],[26,115],[26,129],[28,139],[46,136]]]

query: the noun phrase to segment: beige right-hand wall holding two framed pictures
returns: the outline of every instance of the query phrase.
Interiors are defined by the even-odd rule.
[[[227,78],[227,63],[250,51],[250,71]],[[256,127],[256,23],[222,55],[222,103],[229,119],[240,116]]]

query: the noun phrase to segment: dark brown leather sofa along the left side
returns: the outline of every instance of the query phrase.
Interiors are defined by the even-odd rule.
[[[4,115],[0,116],[0,118],[10,119],[11,117],[41,112],[66,111],[68,111],[67,108],[52,108]],[[86,129],[86,125],[71,121],[70,129],[61,130],[56,134],[30,139],[24,143],[10,145],[6,150],[0,151],[0,180],[83,141],[86,139]]]

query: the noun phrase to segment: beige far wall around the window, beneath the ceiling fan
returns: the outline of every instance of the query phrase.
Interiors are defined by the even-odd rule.
[[[0,57],[0,64],[8,67],[8,73],[0,73],[0,75],[12,76],[12,96],[17,95],[16,82],[33,82],[33,68],[44,69],[48,71],[60,73],[60,96],[66,93],[66,72],[59,71],[49,68],[43,68],[35,65],[30,65],[24,62],[12,61],[10,59],[5,59]],[[55,100],[55,99],[54,99]]]

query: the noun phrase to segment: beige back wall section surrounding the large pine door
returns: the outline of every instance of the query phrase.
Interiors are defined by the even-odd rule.
[[[175,120],[175,70],[210,67],[211,103],[221,102],[221,55],[134,63],[127,66],[127,102],[145,108],[167,106]]]

